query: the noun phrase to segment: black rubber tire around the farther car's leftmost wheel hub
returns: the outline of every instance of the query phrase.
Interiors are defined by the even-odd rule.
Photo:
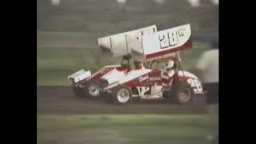
[[[98,88],[99,88],[99,92],[97,92],[98,94],[97,95],[94,95],[94,94],[90,94],[90,86],[92,86],[92,85],[95,85],[95,86],[98,86]],[[83,88],[83,90],[84,90],[84,93],[86,94],[86,97],[87,98],[90,98],[90,99],[98,99],[98,98],[101,98],[102,97],[102,92],[101,92],[101,90],[102,90],[102,85],[101,85],[101,83],[100,82],[98,82],[98,81],[90,81],[90,82],[87,82],[86,83],[86,86]]]

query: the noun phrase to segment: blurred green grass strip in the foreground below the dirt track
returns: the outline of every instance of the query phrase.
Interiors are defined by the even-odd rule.
[[[41,143],[207,144],[218,122],[206,115],[38,115]]]

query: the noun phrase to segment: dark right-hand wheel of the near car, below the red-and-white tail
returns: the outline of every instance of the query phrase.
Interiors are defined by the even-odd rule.
[[[186,104],[192,101],[193,92],[190,89],[190,86],[185,84],[178,85],[174,90],[174,100],[178,104]]]

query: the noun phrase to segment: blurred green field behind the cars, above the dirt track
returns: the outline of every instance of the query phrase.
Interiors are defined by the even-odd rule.
[[[218,40],[218,1],[214,0],[38,0],[38,85],[68,85],[77,70],[120,63],[102,54],[98,38],[157,25],[158,30],[191,24],[193,49],[182,65],[193,67],[210,42]]]

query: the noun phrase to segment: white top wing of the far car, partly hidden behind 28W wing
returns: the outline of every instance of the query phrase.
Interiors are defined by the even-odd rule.
[[[123,56],[131,54],[132,49],[142,49],[142,36],[155,32],[157,32],[157,26],[147,26],[138,30],[98,38],[98,45],[105,50],[110,50],[114,57]]]

